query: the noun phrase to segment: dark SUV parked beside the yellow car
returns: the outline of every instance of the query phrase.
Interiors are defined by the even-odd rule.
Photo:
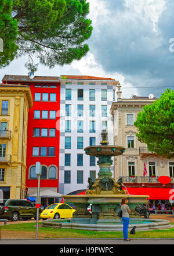
[[[39,215],[42,209],[39,208]],[[28,219],[37,219],[37,208],[27,200],[8,199],[3,207],[3,213],[0,218],[17,221],[19,218],[27,221]]]

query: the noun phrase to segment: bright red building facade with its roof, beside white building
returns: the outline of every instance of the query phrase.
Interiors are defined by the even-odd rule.
[[[28,113],[27,172],[28,194],[37,192],[38,180],[35,164],[42,166],[41,190],[59,191],[59,119],[60,80],[59,77],[28,76],[3,77],[3,83],[29,84],[33,107]]]

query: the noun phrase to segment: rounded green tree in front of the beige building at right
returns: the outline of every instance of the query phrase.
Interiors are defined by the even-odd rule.
[[[173,156],[174,148],[174,91],[167,89],[153,104],[143,107],[134,123],[139,141],[159,155]]]

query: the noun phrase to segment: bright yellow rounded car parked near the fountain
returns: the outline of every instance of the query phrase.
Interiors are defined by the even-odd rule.
[[[43,220],[52,219],[62,219],[62,218],[72,218],[75,209],[70,207],[68,204],[50,204],[44,211],[41,212],[41,218]]]

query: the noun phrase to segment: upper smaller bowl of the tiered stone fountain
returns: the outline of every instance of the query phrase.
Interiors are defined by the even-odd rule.
[[[121,155],[121,150],[125,150],[124,147],[117,146],[117,145],[96,145],[96,146],[90,146],[86,147],[85,152],[87,155]]]

